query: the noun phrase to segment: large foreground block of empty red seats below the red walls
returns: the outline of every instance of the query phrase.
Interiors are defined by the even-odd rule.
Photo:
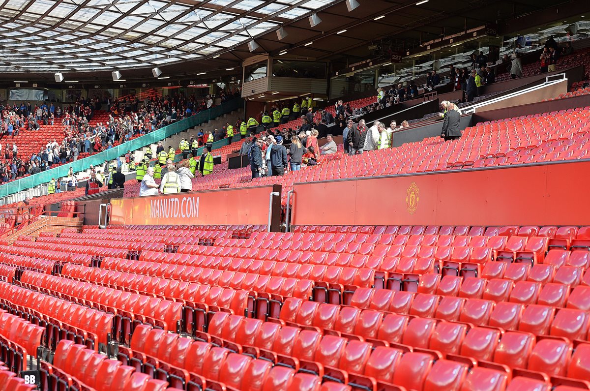
[[[590,389],[590,227],[262,229],[4,243],[0,360],[42,390]]]

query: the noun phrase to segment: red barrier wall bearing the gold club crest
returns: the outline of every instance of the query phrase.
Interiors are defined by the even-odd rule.
[[[293,225],[590,225],[590,161],[294,185]]]

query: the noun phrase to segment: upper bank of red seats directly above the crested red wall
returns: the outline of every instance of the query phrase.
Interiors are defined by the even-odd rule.
[[[210,175],[195,177],[192,188],[281,184],[286,197],[294,183],[582,159],[588,157],[590,145],[589,115],[590,107],[585,107],[478,123],[465,129],[458,141],[427,138],[350,157],[340,144],[336,154],[322,155],[319,165],[276,177],[251,179],[248,167],[229,170],[221,165]],[[139,183],[127,181],[124,196],[137,194]]]

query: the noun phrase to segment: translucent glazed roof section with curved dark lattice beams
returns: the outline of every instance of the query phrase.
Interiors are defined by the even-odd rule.
[[[5,0],[0,71],[125,70],[215,54],[333,0]]]

